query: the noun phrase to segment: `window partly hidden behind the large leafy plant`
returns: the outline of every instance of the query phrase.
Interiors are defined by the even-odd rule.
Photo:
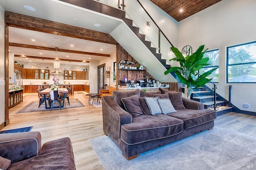
[[[200,69],[200,74],[203,74],[204,72],[213,69],[214,67],[219,67],[219,49],[213,49],[210,51],[206,51],[206,53],[204,53],[204,57],[208,57],[209,61],[208,63],[210,63],[210,65],[207,65],[205,67],[203,67],[202,69]],[[219,69],[216,69],[214,72],[212,72],[211,75],[209,75],[208,77],[206,77],[208,79],[212,79],[213,83],[218,83],[219,82]]]

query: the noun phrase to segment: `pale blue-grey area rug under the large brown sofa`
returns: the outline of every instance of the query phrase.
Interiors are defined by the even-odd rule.
[[[256,169],[256,138],[216,126],[130,161],[108,136],[89,141],[105,170]]]

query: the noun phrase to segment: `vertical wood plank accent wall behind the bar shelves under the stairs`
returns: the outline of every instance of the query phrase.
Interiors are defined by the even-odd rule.
[[[116,89],[118,90],[119,80],[124,80],[124,78],[127,78],[128,80],[134,80],[134,83],[136,83],[136,80],[144,80],[146,78],[152,78],[155,80],[155,78],[148,73],[148,71],[132,71],[132,70],[119,70],[118,69],[118,63],[121,60],[132,60],[136,62],[135,65],[132,65],[132,67],[137,67],[140,65],[120,44],[116,45],[116,64],[117,64],[117,73],[116,73]],[[177,82],[160,82],[162,84],[169,84],[169,90],[171,91],[181,91],[181,85]]]

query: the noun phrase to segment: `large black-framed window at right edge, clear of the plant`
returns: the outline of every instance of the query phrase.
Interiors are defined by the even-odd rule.
[[[256,83],[256,42],[227,47],[227,82]]]

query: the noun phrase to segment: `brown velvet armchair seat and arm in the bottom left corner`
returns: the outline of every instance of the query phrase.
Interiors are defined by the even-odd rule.
[[[41,147],[40,132],[0,134],[0,169],[75,170],[70,138],[52,140]]]

